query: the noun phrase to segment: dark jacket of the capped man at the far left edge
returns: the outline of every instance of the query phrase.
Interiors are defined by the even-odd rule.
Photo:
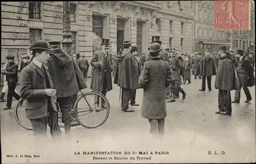
[[[6,65],[6,81],[8,82],[18,82],[18,64],[13,63],[12,65],[8,63]]]

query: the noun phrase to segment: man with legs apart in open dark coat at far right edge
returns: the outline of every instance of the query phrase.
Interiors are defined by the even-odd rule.
[[[245,103],[248,103],[251,101],[251,93],[247,86],[248,86],[249,75],[253,75],[253,66],[250,63],[250,61],[246,57],[244,57],[243,50],[237,51],[237,57],[239,59],[237,63],[238,66],[236,69],[238,89],[236,90],[236,93],[234,95],[234,101],[232,103],[240,103],[240,93],[241,93],[242,87],[246,95]]]

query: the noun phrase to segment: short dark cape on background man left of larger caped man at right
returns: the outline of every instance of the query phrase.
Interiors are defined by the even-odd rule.
[[[216,75],[216,67],[214,59],[206,55],[199,62],[199,71],[201,76]]]

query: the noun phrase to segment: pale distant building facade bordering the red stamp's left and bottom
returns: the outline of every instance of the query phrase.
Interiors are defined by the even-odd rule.
[[[205,49],[215,52],[221,45],[231,46],[228,30],[214,28],[214,1],[195,1],[195,47],[204,55]]]

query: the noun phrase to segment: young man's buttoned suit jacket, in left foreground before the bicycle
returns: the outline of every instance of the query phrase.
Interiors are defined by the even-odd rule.
[[[41,68],[33,62],[20,73],[20,97],[25,100],[23,106],[28,119],[39,119],[48,115],[48,103],[51,102],[44,91],[47,88],[46,81],[50,88],[54,88],[48,69],[46,68],[44,76]]]

